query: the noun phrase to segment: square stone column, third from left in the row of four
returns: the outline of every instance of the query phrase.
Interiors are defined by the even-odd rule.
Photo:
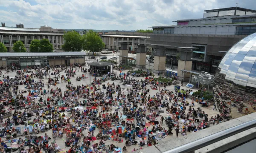
[[[154,73],[160,73],[162,74],[165,72],[165,62],[166,62],[166,57],[165,57],[165,51],[166,48],[156,48],[155,56],[154,56]]]

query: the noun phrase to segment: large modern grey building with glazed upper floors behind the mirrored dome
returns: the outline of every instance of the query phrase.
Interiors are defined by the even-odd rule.
[[[214,73],[225,52],[256,32],[256,11],[246,8],[205,10],[204,18],[177,20],[175,26],[154,26],[151,44],[169,45],[166,63],[177,65],[179,47],[194,47],[192,70]],[[152,46],[153,47],[153,46]]]

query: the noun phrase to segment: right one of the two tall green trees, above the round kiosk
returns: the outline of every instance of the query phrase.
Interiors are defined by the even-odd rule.
[[[98,33],[92,30],[89,30],[82,37],[82,48],[83,50],[93,52],[93,56],[94,56],[94,51],[97,52],[97,51],[100,51],[99,48],[101,49],[105,48],[105,43],[99,37]]]

